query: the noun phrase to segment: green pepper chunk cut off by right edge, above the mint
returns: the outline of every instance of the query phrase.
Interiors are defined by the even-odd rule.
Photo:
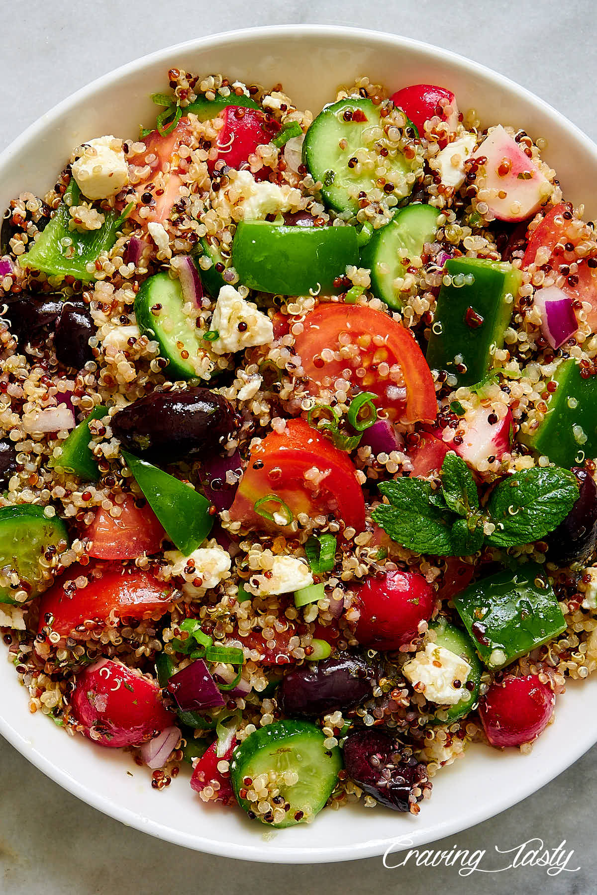
[[[567,469],[597,456],[597,377],[583,379],[580,371],[572,357],[559,364],[552,380],[558,388],[545,399],[542,422],[518,434],[525,445]]]

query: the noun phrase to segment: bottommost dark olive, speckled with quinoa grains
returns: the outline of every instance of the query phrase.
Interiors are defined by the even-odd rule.
[[[348,775],[369,796],[394,811],[418,812],[422,784],[431,788],[427,768],[413,755],[400,755],[400,746],[383,730],[357,730],[346,738],[344,763]]]

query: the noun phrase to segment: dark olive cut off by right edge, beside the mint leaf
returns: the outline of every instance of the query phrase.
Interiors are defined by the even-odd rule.
[[[597,484],[585,469],[575,466],[572,472],[580,489],[576,503],[558,528],[545,538],[548,557],[558,566],[586,559],[597,543]]]

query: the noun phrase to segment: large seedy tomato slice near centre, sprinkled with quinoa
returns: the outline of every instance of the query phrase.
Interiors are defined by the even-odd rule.
[[[324,360],[325,349],[333,359]],[[433,422],[438,413],[433,378],[411,331],[383,311],[325,303],[307,314],[294,339],[311,395],[333,393],[337,379],[378,396],[401,422]]]

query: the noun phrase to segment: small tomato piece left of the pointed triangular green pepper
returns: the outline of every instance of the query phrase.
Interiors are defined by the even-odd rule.
[[[137,507],[127,494],[118,505],[121,514],[116,519],[105,509],[98,509],[96,517],[85,531],[91,539],[90,557],[97,559],[136,559],[143,553],[157,553],[166,532],[149,504]]]

